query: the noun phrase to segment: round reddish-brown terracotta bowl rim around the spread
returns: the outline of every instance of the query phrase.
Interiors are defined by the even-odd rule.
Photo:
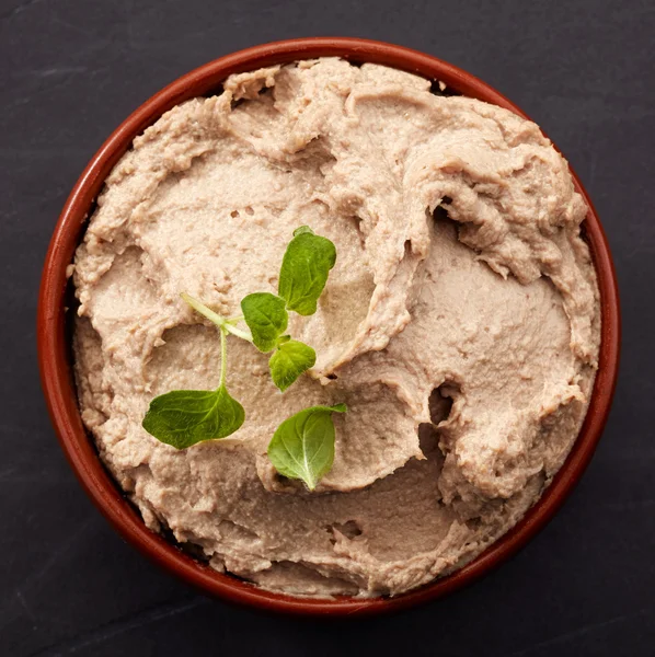
[[[41,377],[55,429],[82,486],[118,532],[143,554],[171,573],[207,593],[260,609],[311,615],[374,614],[399,610],[449,593],[479,578],[509,558],[555,514],[587,466],[605,425],[619,364],[620,316],[617,281],[606,237],[594,207],[573,174],[577,191],[589,207],[584,224],[598,272],[602,311],[602,342],[594,394],[586,420],[568,459],[541,499],[526,517],[486,552],[457,573],[415,591],[394,598],[334,600],[292,598],[261,590],[229,575],[221,575],[193,560],[179,548],[146,528],[140,516],[123,496],[102,465],[93,441],[87,435],[76,400],[71,374],[70,288],[66,268],[84,232],[87,218],[103,181],[133,139],[164,112],[194,96],[217,93],[221,82],[234,72],[274,64],[324,56],[354,62],[371,61],[441,80],[452,90],[526,116],[516,105],[473,76],[435,57],[372,41],[355,38],[303,38],[255,46],[221,57],[183,76],[143,103],[103,143],[76,183],[55,228],[41,283],[37,339]]]

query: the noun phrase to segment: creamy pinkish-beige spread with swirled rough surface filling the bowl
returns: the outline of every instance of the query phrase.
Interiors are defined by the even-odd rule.
[[[340,59],[232,76],[135,139],[74,266],[83,420],[151,529],[212,567],[296,595],[400,593],[460,567],[539,499],[581,428],[599,348],[586,214],[539,128]],[[295,228],[337,262],[291,334],[315,368],[280,394],[268,356],[229,338],[230,438],[177,451],[150,400],[212,389],[223,315],[277,289]],[[335,414],[309,493],[266,457],[313,404]]]

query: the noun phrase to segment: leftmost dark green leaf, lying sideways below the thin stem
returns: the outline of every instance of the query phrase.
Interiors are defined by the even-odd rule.
[[[154,397],[143,428],[176,449],[233,434],[245,418],[243,406],[225,387],[218,390],[173,390]]]

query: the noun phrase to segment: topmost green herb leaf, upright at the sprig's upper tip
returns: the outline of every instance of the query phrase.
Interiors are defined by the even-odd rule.
[[[287,308],[301,315],[317,312],[317,301],[336,262],[336,249],[328,239],[301,226],[294,231],[281,261],[278,295]]]

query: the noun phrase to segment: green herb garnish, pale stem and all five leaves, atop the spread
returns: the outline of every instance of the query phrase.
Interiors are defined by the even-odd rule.
[[[277,295],[248,295],[241,301],[241,316],[222,318],[183,292],[182,299],[218,327],[219,384],[216,390],[173,390],[154,397],[143,417],[143,428],[161,442],[186,449],[205,440],[226,438],[241,427],[245,412],[227,388],[228,334],[252,343],[264,354],[273,351],[268,360],[271,378],[281,392],[287,390],[317,361],[312,347],[286,334],[288,313],[307,316],[317,311],[335,262],[334,244],[302,226],[294,231],[287,245]],[[241,321],[250,333],[239,328]],[[279,425],[268,445],[268,458],[275,469],[284,476],[302,480],[310,491],[334,461],[334,412],[345,413],[345,404],[300,411]]]

